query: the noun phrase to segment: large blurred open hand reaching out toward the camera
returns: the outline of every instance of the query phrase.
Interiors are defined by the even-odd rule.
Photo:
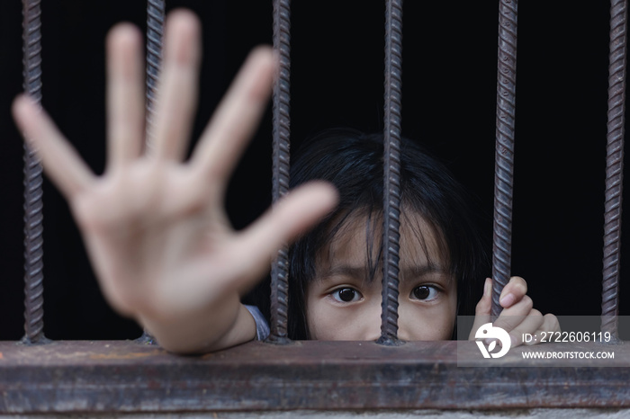
[[[265,111],[275,72],[270,49],[247,58],[183,162],[196,107],[200,25],[177,11],[166,23],[156,120],[145,144],[141,36],[121,24],[108,36],[106,171],[95,176],[28,97],[14,119],[84,236],[105,298],[175,352],[204,352],[256,334],[240,295],[266,272],[277,249],[336,202],[327,184],[291,192],[252,226],[235,232],[224,209],[229,175]]]

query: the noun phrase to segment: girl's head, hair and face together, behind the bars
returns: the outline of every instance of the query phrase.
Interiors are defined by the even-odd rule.
[[[317,179],[338,191],[336,209],[293,245],[293,339],[379,336],[383,148],[381,134],[335,129],[311,138],[293,159],[292,187]],[[473,226],[462,187],[444,165],[403,138],[399,304],[401,315],[409,315],[401,316],[402,339],[448,339],[457,313],[473,315],[486,260]],[[333,325],[316,324],[326,317]],[[347,320],[339,325],[336,318]]]

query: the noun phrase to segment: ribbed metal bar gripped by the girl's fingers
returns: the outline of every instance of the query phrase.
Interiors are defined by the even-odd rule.
[[[517,0],[500,0],[497,66],[497,131],[494,171],[492,245],[492,318],[499,316],[499,296],[509,281],[512,257],[514,125],[517,90]]]

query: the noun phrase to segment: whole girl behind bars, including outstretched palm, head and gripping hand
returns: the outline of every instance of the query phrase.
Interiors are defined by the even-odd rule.
[[[293,334],[313,339],[375,338],[377,300],[380,313],[380,297],[376,297],[380,296],[380,246],[373,239],[380,236],[380,214],[374,205],[379,202],[378,192],[347,184],[344,179],[361,177],[356,170],[332,170],[354,163],[352,149],[361,138],[349,140],[354,145],[348,145],[342,160],[331,154],[332,149],[326,152],[329,157],[318,156],[326,147],[312,143],[314,148],[304,155],[311,163],[295,162],[297,183],[323,178],[337,183],[340,193],[329,183],[303,183],[252,226],[233,231],[223,195],[229,174],[266,108],[275,58],[266,48],[252,52],[192,158],[181,163],[198,86],[199,31],[191,13],[171,13],[157,118],[149,133],[151,147],[143,151],[140,34],[127,24],[112,30],[107,68],[108,163],[101,177],[90,172],[29,98],[14,102],[14,118],[24,137],[69,202],[105,298],[169,351],[209,352],[247,342],[256,337],[257,325],[240,297],[264,275],[282,244],[293,242],[330,214],[293,250],[293,277],[300,286],[293,287],[292,302],[302,314],[295,316]],[[371,140],[366,145],[382,147],[379,143]],[[402,202],[401,338],[447,339],[454,330],[458,305],[470,300],[469,287],[478,278],[474,261],[480,260],[475,250],[480,247],[474,244],[457,194],[450,193],[457,188],[455,183],[428,158],[422,169],[427,175],[418,171],[416,165],[425,163],[415,159],[426,155],[411,146],[410,150],[414,161],[406,190],[419,193],[405,194]],[[363,175],[380,178],[382,169],[374,162],[381,157],[370,150],[365,156]],[[332,160],[321,161],[326,158]],[[317,170],[309,173],[313,168]],[[331,213],[338,201],[341,205]],[[490,321],[490,284],[486,280],[476,308],[480,325]],[[515,278],[501,294],[505,309],[498,322],[503,319],[502,326],[513,334],[515,344],[522,333],[558,327],[554,316],[541,316],[532,308],[526,293],[525,281]],[[515,324],[506,323],[513,316],[523,317]]]

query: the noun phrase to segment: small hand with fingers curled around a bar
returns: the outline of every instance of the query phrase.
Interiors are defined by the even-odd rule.
[[[559,332],[560,324],[553,314],[543,314],[534,308],[534,302],[527,296],[527,282],[518,276],[510,278],[501,291],[499,303],[503,310],[492,323],[509,333],[512,346],[523,342],[523,334],[538,332]],[[483,286],[483,297],[475,309],[473,331],[469,339],[474,340],[476,330],[491,322],[492,280],[486,279]],[[532,341],[536,343],[536,341]]]

